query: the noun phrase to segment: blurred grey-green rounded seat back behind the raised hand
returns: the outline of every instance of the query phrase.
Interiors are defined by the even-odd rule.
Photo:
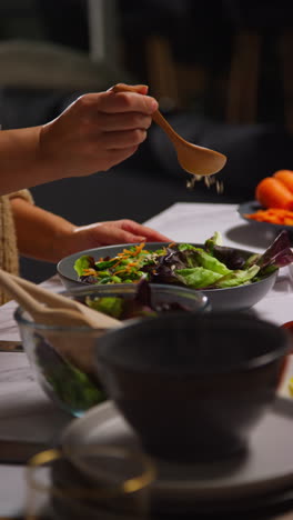
[[[130,74],[87,52],[42,41],[0,42],[0,87],[102,90]]]

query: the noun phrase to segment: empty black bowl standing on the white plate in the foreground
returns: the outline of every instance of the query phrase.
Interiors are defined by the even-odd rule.
[[[247,448],[287,351],[287,333],[252,316],[178,313],[104,334],[95,360],[144,449],[194,461]]]

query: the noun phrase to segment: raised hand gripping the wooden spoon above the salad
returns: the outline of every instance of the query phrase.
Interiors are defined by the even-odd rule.
[[[39,159],[54,177],[105,171],[132,156],[145,140],[158,102],[137,92],[88,93],[40,128]]]

